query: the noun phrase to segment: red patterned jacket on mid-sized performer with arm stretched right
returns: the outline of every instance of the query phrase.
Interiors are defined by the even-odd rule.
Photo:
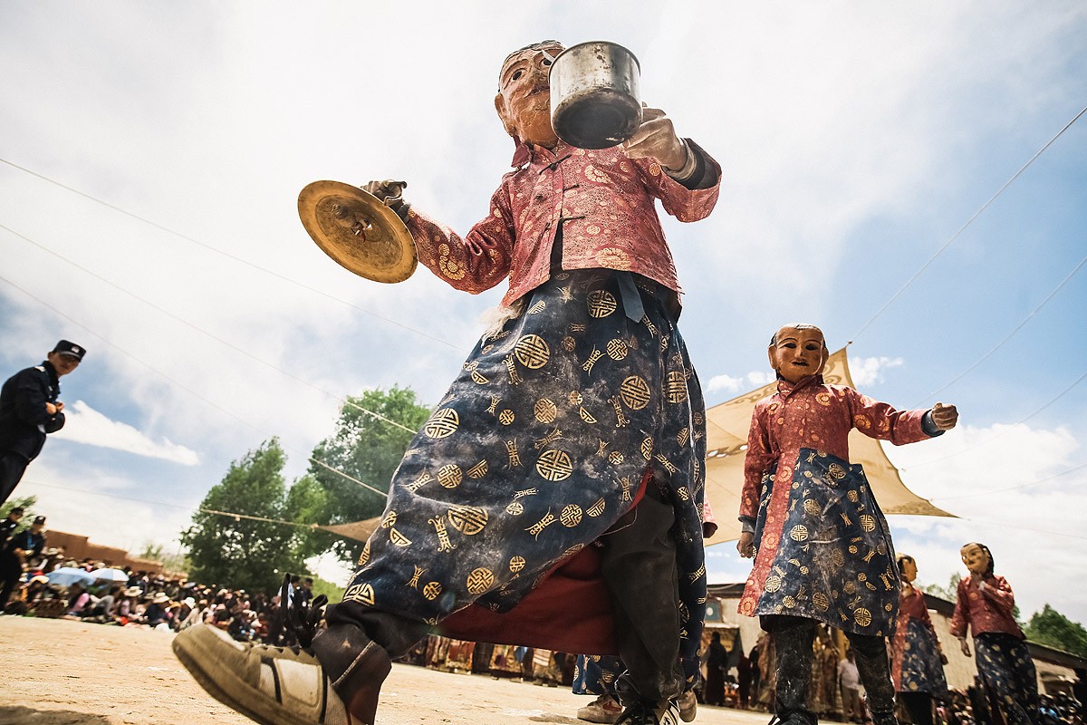
[[[778,380],[777,392],[755,403],[751,414],[740,516],[758,516],[762,475],[774,462],[780,462],[778,480],[788,480],[801,448],[848,461],[852,428],[896,446],[925,440],[929,436],[922,420],[927,412],[897,411],[852,388],[825,385],[822,375],[805,377],[796,385]]]

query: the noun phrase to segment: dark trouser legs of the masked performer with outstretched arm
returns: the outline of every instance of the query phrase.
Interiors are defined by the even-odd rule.
[[[819,623],[799,616],[770,615],[762,617],[762,624],[774,638],[777,654],[774,712],[782,721],[815,725],[815,713],[808,709],[808,688],[812,678],[812,642]],[[895,725],[895,690],[884,638],[849,632],[846,636],[869,695],[873,724]]]

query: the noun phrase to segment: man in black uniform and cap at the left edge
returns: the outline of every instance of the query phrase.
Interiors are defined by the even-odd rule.
[[[46,434],[64,427],[60,377],[76,368],[86,348],[61,340],[40,365],[22,370],[0,388],[0,504],[41,452]]]

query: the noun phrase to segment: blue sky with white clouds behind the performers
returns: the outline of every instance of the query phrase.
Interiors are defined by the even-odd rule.
[[[889,451],[963,517],[892,517],[922,583],[980,540],[1025,613],[1087,621],[1070,584],[1087,385],[1032,416],[1087,371],[1087,272],[1032,316],[1087,253],[1087,117],[867,324],[1087,105],[1082,3],[409,4],[0,9],[0,370],[60,337],[90,350],[64,379],[68,427],[20,488],[52,526],[176,547],[262,440],[280,437],[293,477],[342,396],[402,385],[436,402],[502,289],[471,297],[422,267],[400,285],[353,277],[305,236],[298,191],[403,178],[466,232],[512,152],[491,105],[501,59],[604,38],[724,168],[709,220],[665,226],[708,402],[754,387],[785,322],[854,340],[863,391],[962,413]],[[710,553],[714,580],[746,575],[728,545]]]

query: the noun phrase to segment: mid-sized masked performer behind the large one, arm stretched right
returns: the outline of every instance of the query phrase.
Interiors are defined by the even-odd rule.
[[[954,405],[896,411],[852,388],[826,385],[828,351],[814,325],[786,325],[771,338],[777,392],[755,403],[745,459],[737,543],[754,557],[740,614],[759,616],[774,639],[774,711],[790,725],[814,725],[808,708],[812,642],[820,622],[846,633],[867,691],[874,725],[895,725],[885,637],[898,608],[890,532],[859,465],[849,462],[852,428],[895,445],[955,425]]]

